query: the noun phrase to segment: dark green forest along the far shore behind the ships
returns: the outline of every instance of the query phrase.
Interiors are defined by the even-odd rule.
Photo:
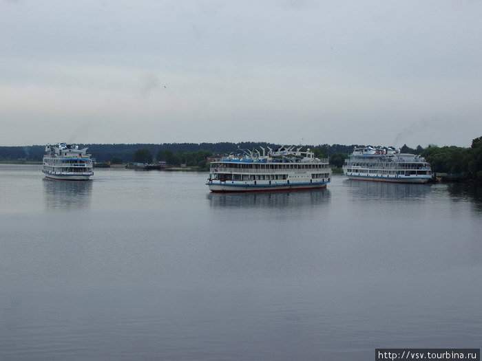
[[[171,166],[196,167],[207,169],[207,158],[214,155],[242,153],[242,150],[260,149],[260,146],[276,149],[279,146],[293,144],[272,144],[266,142],[218,142],[218,143],[163,143],[163,144],[78,144],[79,148],[88,147],[89,153],[97,162],[124,164],[128,162],[165,161]],[[335,168],[340,168],[355,146],[365,144],[320,144],[304,145],[311,149],[316,157],[328,157]],[[300,146],[297,146],[300,147]],[[425,157],[436,173],[457,175],[461,179],[482,181],[482,137],[472,140],[469,148],[460,146],[417,146],[410,148],[406,144],[401,153],[419,154]],[[41,162],[45,146],[0,146],[0,162]]]

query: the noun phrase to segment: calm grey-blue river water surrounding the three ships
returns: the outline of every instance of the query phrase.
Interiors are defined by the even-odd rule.
[[[0,360],[374,360],[482,346],[482,189],[0,165]]]

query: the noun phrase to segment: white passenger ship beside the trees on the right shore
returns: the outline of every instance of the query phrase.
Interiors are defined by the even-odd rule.
[[[371,146],[355,148],[343,172],[348,179],[379,182],[426,183],[432,179],[430,164],[420,155]]]

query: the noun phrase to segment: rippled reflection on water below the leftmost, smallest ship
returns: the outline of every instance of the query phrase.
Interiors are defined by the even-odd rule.
[[[43,179],[45,210],[86,210],[91,206],[92,181]]]

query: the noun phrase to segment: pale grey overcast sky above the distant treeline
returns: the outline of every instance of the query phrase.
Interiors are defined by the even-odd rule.
[[[0,0],[0,145],[470,146],[482,1]]]

